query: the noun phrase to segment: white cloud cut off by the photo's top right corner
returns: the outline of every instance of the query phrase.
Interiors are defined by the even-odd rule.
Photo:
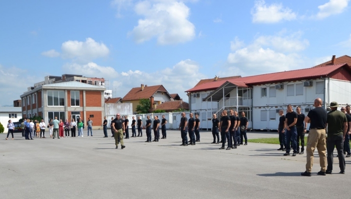
[[[318,19],[323,19],[333,14],[340,14],[348,6],[349,1],[350,0],[330,0],[323,5],[319,5],[319,12],[316,17]]]

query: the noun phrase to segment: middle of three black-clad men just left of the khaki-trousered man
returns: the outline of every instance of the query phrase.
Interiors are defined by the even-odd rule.
[[[296,122],[298,121],[298,113],[293,111],[291,104],[288,105],[288,113],[285,115],[285,125],[287,128],[287,151],[284,156],[290,156],[291,143],[293,142],[293,156],[296,156],[297,152],[297,136]]]

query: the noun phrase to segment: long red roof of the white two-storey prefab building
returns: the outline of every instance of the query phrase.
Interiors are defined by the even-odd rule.
[[[255,75],[243,78],[235,78],[228,80],[232,84],[235,84],[239,87],[248,87],[258,84],[270,84],[270,83],[279,83],[279,82],[287,82],[287,81],[294,81],[294,80],[303,80],[303,79],[312,79],[312,78],[319,78],[319,77],[326,77],[333,71],[341,68],[347,67],[349,71],[351,68],[348,64],[337,64],[337,65],[327,65],[321,67],[314,67],[314,68],[307,68],[307,69],[299,69],[293,71],[284,71],[278,73],[270,73],[270,74],[263,74],[263,75]],[[186,92],[199,92],[199,91],[211,91],[215,90],[218,87],[222,86],[227,81],[218,81],[218,82],[211,82],[202,84],[200,86],[195,86],[192,89],[189,89]]]

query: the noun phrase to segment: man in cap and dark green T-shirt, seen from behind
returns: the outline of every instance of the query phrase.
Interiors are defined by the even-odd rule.
[[[332,174],[333,171],[333,152],[337,148],[339,157],[340,174],[345,174],[344,140],[348,130],[348,120],[345,113],[338,110],[339,104],[336,101],[330,103],[331,111],[327,114],[327,160],[328,167],[325,174]],[[323,174],[322,174],[323,175]]]

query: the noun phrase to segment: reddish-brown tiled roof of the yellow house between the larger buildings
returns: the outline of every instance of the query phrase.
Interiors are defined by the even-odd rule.
[[[127,95],[124,96],[122,101],[127,101],[127,100],[140,100],[140,99],[150,99],[157,91],[162,91],[166,92],[167,95],[168,92],[162,85],[157,85],[157,86],[145,86],[144,90],[141,91],[141,87],[136,87],[131,89]]]

